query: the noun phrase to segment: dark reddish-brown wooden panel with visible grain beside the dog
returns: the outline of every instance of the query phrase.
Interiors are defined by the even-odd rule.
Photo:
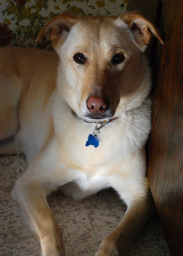
[[[171,255],[183,255],[183,4],[164,1],[147,176]]]

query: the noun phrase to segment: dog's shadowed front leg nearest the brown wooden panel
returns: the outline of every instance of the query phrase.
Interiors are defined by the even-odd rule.
[[[122,256],[135,234],[152,215],[154,202],[150,191],[144,196],[134,197],[127,203],[127,212],[116,229],[103,241],[95,256]]]

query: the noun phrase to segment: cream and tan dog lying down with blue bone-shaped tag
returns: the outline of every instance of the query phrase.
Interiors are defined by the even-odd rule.
[[[144,51],[157,29],[131,12],[49,21],[56,53],[0,49],[0,154],[29,163],[11,196],[39,237],[42,255],[64,256],[46,201],[61,189],[81,199],[112,187],[127,205],[96,256],[122,255],[154,210],[144,145],[151,130],[151,72]]]

